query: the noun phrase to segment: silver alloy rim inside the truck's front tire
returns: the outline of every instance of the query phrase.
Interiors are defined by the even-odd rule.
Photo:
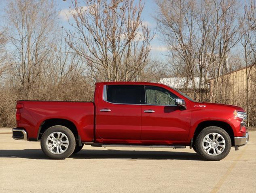
[[[202,146],[208,155],[218,156],[224,151],[226,142],[219,133],[209,133],[203,138]]]

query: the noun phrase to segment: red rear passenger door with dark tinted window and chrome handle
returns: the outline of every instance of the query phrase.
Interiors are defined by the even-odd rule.
[[[103,95],[99,97],[102,99],[97,104],[96,139],[101,142],[139,140],[140,85],[104,85]]]

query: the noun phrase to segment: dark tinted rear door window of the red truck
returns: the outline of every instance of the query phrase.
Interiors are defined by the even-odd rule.
[[[108,102],[140,104],[140,85],[108,85],[106,92]]]

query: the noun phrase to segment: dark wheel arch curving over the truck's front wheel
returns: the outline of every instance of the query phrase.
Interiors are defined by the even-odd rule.
[[[234,131],[233,131],[231,125],[229,125],[227,122],[219,121],[219,120],[205,120],[205,121],[200,122],[197,125],[197,128],[195,129],[194,136],[193,136],[193,141],[195,141],[197,135],[204,128],[210,127],[210,126],[220,127],[222,129],[224,129],[228,133],[229,137],[231,138],[231,144],[235,145]]]

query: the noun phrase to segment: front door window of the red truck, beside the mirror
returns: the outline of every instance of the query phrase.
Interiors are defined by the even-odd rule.
[[[175,105],[177,96],[164,88],[145,86],[145,92],[148,105]]]

